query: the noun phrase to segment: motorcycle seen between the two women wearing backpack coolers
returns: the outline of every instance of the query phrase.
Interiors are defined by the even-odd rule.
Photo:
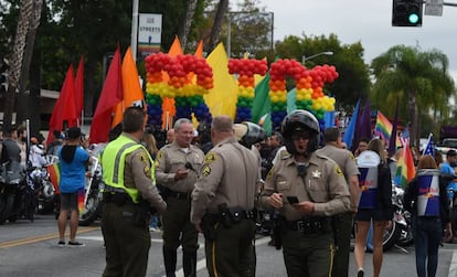
[[[395,212],[392,224],[384,230],[383,249],[389,251],[394,245],[410,246],[413,244],[413,233],[411,228],[411,214],[403,207],[404,190],[396,185],[392,187],[392,204]]]

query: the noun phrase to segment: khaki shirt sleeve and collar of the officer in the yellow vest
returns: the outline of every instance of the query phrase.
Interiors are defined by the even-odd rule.
[[[123,135],[139,143],[137,138],[126,132],[123,132]],[[151,180],[151,167],[152,164],[145,148],[138,148],[131,153],[126,155],[124,185],[126,188],[136,188],[144,200],[153,205],[159,213],[162,213],[167,210],[167,203],[160,196],[156,183]]]

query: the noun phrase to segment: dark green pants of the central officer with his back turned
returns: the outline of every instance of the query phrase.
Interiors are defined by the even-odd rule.
[[[214,225],[215,238],[205,237],[206,268],[211,277],[255,276],[255,223],[242,220],[231,227]]]

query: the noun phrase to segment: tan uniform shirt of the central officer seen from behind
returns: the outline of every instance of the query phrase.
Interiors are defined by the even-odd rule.
[[[191,221],[217,213],[217,205],[254,209],[256,182],[261,179],[255,153],[228,138],[206,153],[201,177],[192,192]]]

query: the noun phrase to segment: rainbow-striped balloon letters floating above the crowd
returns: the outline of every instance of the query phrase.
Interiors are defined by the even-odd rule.
[[[162,104],[174,99],[176,118],[192,119],[211,124],[212,115],[203,95],[213,88],[213,71],[203,57],[194,55],[170,56],[164,53],[146,57],[148,124],[162,126]],[[227,71],[237,75],[238,92],[235,122],[252,120],[252,106],[255,97],[254,75],[265,76],[266,60],[231,58]],[[278,128],[287,115],[287,77],[296,85],[296,106],[311,111],[323,124],[326,111],[334,110],[336,99],[323,94],[323,85],[338,77],[334,66],[322,65],[306,68],[296,60],[277,60],[269,68],[269,99],[273,128]]]

